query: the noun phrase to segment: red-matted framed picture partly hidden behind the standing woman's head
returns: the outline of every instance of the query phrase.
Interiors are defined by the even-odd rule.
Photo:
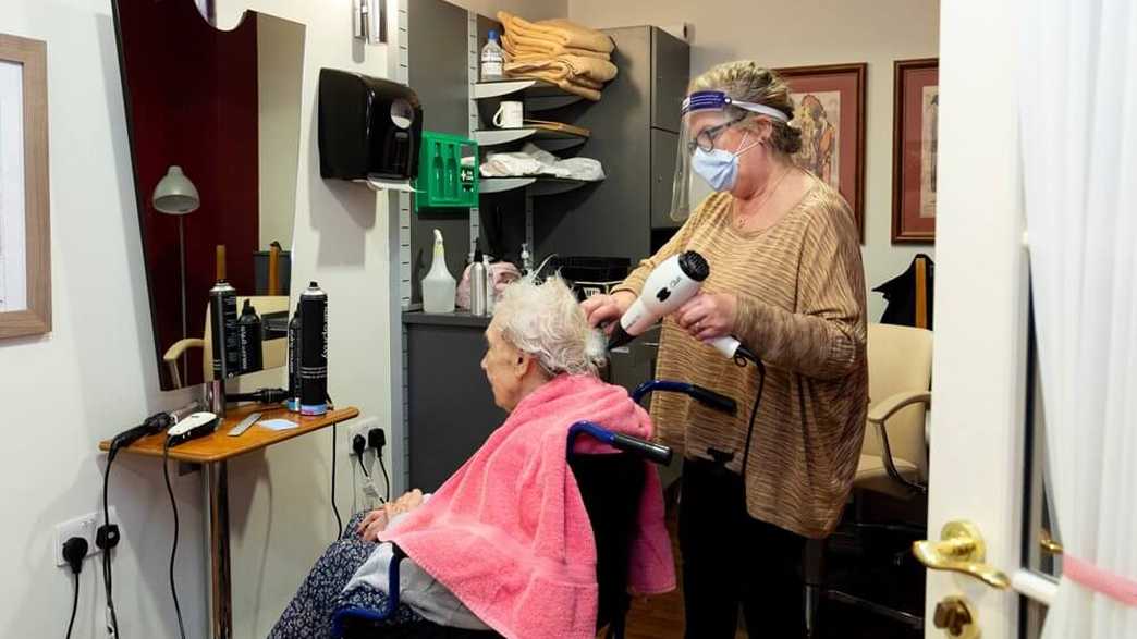
[[[864,241],[864,85],[869,65],[777,69],[789,83],[802,131],[798,166],[837,189],[853,207]]]

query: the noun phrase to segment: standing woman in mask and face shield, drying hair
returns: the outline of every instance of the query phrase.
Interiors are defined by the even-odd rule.
[[[741,604],[752,638],[799,637],[802,550],[837,526],[864,437],[858,233],[841,196],[791,159],[802,134],[782,78],[739,61],[690,89],[675,209],[686,214],[690,171],[715,193],[613,294],[583,306],[592,325],[613,322],[661,262],[684,250],[707,258],[702,292],[663,323],[657,376],[735,397],[738,415],[686,396],[652,401],[659,438],[683,451],[686,636],[735,637]],[[728,334],[765,363],[764,384],[753,365],[703,343]]]

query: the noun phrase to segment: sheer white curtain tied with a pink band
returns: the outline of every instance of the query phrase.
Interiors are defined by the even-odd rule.
[[[1022,169],[1067,572],[1137,582],[1137,3],[1024,2]],[[1137,607],[1067,576],[1044,637],[1137,638]]]

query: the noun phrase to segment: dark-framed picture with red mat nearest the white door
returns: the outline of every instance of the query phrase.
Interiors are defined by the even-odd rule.
[[[897,60],[893,91],[893,243],[933,242],[939,60]]]

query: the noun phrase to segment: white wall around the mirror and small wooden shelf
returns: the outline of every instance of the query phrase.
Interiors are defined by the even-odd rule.
[[[318,69],[383,76],[385,49],[352,42],[346,1],[249,5],[307,25],[293,289],[315,279],[329,291],[332,396],[387,424],[387,210],[364,189],[319,179],[314,127]],[[218,14],[223,25],[235,22],[232,7]],[[103,464],[97,441],[186,395],[158,390],[110,3],[6,0],[0,25],[48,42],[55,312],[49,337],[0,342],[0,545],[7,557],[0,563],[0,636],[50,637],[64,633],[72,597],[70,576],[51,561],[51,526],[96,509]],[[231,467],[238,637],[265,636],[333,537],[330,437],[298,438]],[[346,460],[339,472],[346,512]],[[181,604],[188,634],[204,637],[200,475],[175,475],[175,490]],[[115,561],[123,636],[175,637],[166,584],[172,518],[160,465],[119,457],[111,503],[124,533]],[[103,636],[98,575],[88,562],[76,638]]]

